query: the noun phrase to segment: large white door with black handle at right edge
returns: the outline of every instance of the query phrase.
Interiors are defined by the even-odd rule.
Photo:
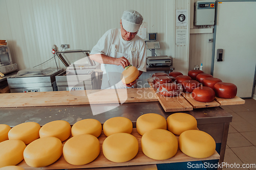
[[[216,2],[214,77],[238,87],[237,96],[252,96],[256,65],[256,1]],[[223,61],[217,50],[223,49]]]

